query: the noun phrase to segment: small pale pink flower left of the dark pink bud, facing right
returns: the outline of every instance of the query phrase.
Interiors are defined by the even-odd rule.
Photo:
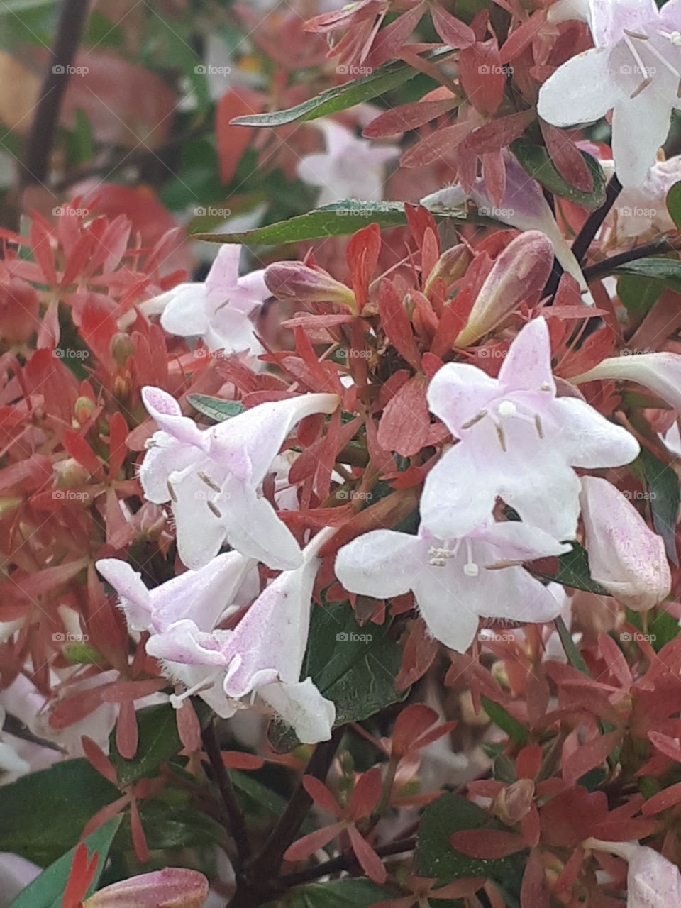
[[[161,314],[169,334],[202,338],[209,350],[260,353],[251,317],[271,296],[264,270],[239,277],[242,247],[225,243],[205,281],[182,283],[142,303],[147,315]]]

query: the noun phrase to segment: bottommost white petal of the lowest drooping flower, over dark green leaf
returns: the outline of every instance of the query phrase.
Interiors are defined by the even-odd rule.
[[[258,695],[292,726],[303,744],[317,744],[331,737],[336,706],[321,696],[311,678],[297,684],[265,685],[259,688]]]

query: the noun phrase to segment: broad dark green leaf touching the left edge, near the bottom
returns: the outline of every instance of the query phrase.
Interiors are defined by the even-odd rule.
[[[120,796],[84,759],[64,760],[2,785],[0,851],[52,864],[78,842],[88,820]]]

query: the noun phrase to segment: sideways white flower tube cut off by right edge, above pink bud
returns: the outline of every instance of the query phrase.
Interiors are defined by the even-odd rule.
[[[611,356],[593,369],[570,379],[575,384],[585,381],[636,381],[666,400],[681,413],[681,356],[678,353],[638,353],[635,356]]]

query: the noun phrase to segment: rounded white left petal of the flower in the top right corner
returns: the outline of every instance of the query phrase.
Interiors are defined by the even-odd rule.
[[[610,48],[595,47],[559,66],[539,89],[539,116],[554,126],[591,123],[605,116],[618,98],[609,57]]]

